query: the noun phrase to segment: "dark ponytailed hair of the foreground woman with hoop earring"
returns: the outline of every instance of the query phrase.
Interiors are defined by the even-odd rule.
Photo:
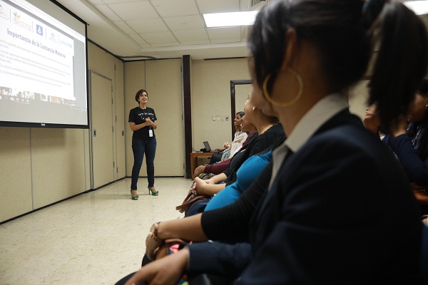
[[[284,59],[288,28],[317,48],[331,92],[345,93],[362,80],[376,46],[374,68],[367,76],[368,103],[377,102],[381,123],[388,129],[407,113],[427,72],[428,40],[422,20],[402,3],[277,0],[263,6],[248,45],[254,80],[263,86],[269,74],[268,90]]]

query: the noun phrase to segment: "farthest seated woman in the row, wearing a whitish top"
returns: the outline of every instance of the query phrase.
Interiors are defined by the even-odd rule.
[[[232,142],[223,143],[223,150],[216,152],[210,158],[210,164],[215,162],[227,160],[229,157],[233,157],[235,151],[238,150],[245,142],[248,137],[248,133],[241,130],[241,119],[245,115],[244,112],[236,113],[235,119],[233,120],[233,125],[235,125],[235,135]]]

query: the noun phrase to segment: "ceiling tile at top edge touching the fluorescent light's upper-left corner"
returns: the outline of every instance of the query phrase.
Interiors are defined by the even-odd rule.
[[[151,3],[161,17],[199,14],[195,0],[151,0]]]

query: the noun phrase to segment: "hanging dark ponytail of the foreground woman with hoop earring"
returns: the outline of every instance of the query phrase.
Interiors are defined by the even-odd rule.
[[[363,19],[367,17],[363,15]],[[422,20],[406,6],[386,2],[369,33],[379,51],[369,84],[368,103],[377,103],[381,125],[389,130],[400,116],[407,114],[427,73],[427,31]]]

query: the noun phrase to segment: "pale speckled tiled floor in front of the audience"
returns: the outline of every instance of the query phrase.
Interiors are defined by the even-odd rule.
[[[0,284],[114,284],[136,271],[153,222],[183,217],[190,180],[140,178],[138,201],[126,178],[0,225]]]

